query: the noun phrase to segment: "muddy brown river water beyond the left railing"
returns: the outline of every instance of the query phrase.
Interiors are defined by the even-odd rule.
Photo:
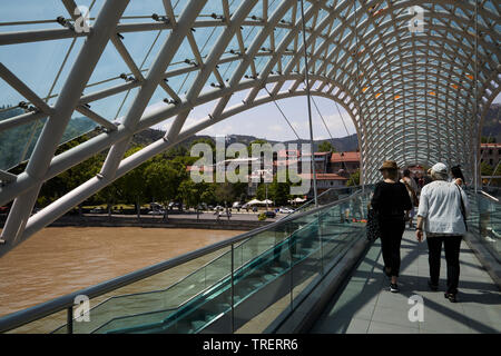
[[[242,233],[140,227],[46,228],[0,258],[0,316]],[[170,274],[164,273],[161,286],[150,277],[146,284],[124,287],[115,295],[165,287],[212,258],[214,256],[203,258],[191,267],[176,267]],[[98,303],[108,296],[94,300]]]

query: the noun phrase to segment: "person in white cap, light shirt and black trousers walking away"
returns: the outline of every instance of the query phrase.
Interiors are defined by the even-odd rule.
[[[448,181],[448,168],[436,164],[431,168],[433,181],[421,190],[418,209],[416,239],[423,240],[426,234],[429,250],[430,279],[432,290],[439,290],[440,258],[442,245],[445,248],[448,264],[448,288],[444,294],[450,301],[456,301],[460,277],[460,247],[466,233],[466,218],[470,214],[468,197],[455,181]]]

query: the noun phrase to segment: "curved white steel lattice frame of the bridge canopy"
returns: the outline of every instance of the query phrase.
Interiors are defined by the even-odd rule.
[[[76,21],[73,0],[61,1]],[[204,11],[209,2],[220,4],[220,13],[207,17]],[[272,100],[305,95],[305,43],[299,36],[297,0],[242,0],[238,7],[233,7],[230,0],[189,0],[179,13],[170,0],[163,0],[164,19],[168,20],[119,23],[128,3],[105,0],[90,33],[77,33],[70,28],[0,33],[0,46],[87,36],[53,107],[0,63],[0,77],[36,108],[0,121],[0,131],[48,118],[26,170],[17,176],[0,171],[0,205],[14,199],[1,235],[4,244],[0,245],[0,256],[118,177],[196,132]],[[460,162],[468,178],[475,177],[481,123],[500,92],[499,3],[305,3],[311,93],[341,103],[351,116],[360,138],[363,181],[377,179],[376,168],[384,159],[394,159],[402,166],[438,160]],[[424,9],[426,24],[421,33],[407,29],[413,17],[409,9],[414,6]],[[256,9],[261,17],[254,14]],[[208,55],[203,56],[193,31],[216,27],[222,32]],[[257,30],[252,41],[243,37],[244,27]],[[119,34],[138,31],[168,32],[148,69],[135,63]],[[236,39],[235,48],[230,47],[232,39]],[[193,58],[171,66],[185,40]],[[92,87],[89,79],[109,41],[129,68],[127,76],[132,80],[111,85],[117,78],[109,78],[106,89],[80,95]],[[236,69],[225,80],[219,66],[228,63]],[[230,67],[226,68],[228,71]],[[189,75],[195,80],[186,95],[168,83]],[[262,91],[265,86],[272,86],[271,95]],[[135,88],[137,95],[119,123],[87,106]],[[165,91],[169,103],[148,106],[157,88]],[[232,97],[244,90],[244,102],[229,107]],[[210,115],[187,126],[190,110],[210,101],[216,102]],[[76,110],[106,131],[55,156]],[[164,139],[124,158],[132,135],[169,118],[171,126]],[[43,181],[106,149],[107,159],[97,177],[30,216]]]

